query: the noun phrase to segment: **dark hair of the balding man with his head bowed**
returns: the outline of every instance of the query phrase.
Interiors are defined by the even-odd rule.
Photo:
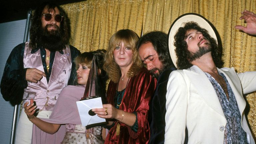
[[[168,35],[161,31],[153,31],[143,35],[136,44],[137,50],[140,46],[151,42],[157,52],[158,59],[162,63],[162,69],[175,67],[168,50]]]

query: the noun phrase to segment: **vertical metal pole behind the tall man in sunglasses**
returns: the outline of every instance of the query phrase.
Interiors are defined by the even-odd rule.
[[[26,27],[25,27],[25,33],[24,33],[23,42],[26,42],[28,40],[28,32],[29,32],[31,14],[32,14],[32,10],[29,10],[28,13],[27,13],[27,21],[26,21]],[[13,111],[12,131],[11,131],[10,144],[14,144],[14,140],[15,140],[15,132],[16,132],[18,109],[19,109],[19,105],[16,104],[14,106],[14,111]]]

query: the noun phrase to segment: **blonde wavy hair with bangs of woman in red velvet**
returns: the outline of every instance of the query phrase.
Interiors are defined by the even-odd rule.
[[[130,29],[122,29],[113,34],[109,41],[109,46],[104,58],[103,69],[107,72],[109,79],[114,83],[117,83],[120,76],[121,70],[114,60],[114,50],[116,46],[121,45],[123,42],[126,47],[129,47],[133,52],[133,64],[127,73],[127,77],[133,77],[138,74],[142,67],[142,62],[136,49],[136,42],[138,41],[138,35]]]

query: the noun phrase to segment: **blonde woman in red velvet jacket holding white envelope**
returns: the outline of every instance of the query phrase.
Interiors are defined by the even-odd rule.
[[[107,118],[110,129],[105,143],[148,143],[150,137],[149,102],[156,79],[142,68],[135,44],[138,36],[132,30],[117,31],[110,39],[103,69],[109,75],[107,101],[103,108],[93,109]]]

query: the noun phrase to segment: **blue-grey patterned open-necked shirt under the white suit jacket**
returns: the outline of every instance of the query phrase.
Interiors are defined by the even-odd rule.
[[[224,131],[224,144],[248,144],[246,132],[243,130],[241,125],[241,115],[236,102],[236,98],[227,81],[227,78],[223,73],[219,72],[219,75],[223,77],[227,84],[229,99],[227,98],[220,84],[210,74],[206,72],[205,74],[215,89],[227,120]]]

